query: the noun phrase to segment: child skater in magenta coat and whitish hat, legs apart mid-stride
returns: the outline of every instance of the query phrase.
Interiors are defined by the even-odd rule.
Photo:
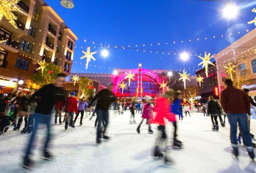
[[[144,119],[147,119],[147,122],[153,115],[153,108],[154,105],[152,104],[153,98],[150,96],[145,96],[145,100],[147,101],[147,104],[143,106],[143,113],[142,113],[142,121],[140,122],[139,126],[137,127],[137,133],[140,134],[140,126],[143,123]],[[149,133],[153,133],[150,124],[149,125]]]

